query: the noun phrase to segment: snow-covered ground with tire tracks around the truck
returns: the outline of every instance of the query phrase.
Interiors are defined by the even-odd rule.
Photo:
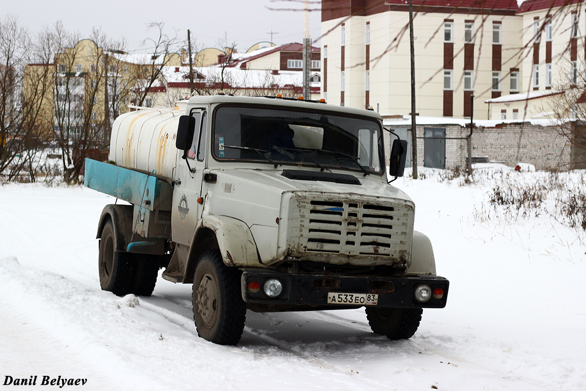
[[[62,388],[83,390],[586,389],[584,234],[547,213],[495,219],[483,203],[498,175],[459,186],[422,171],[428,179],[394,183],[415,201],[415,229],[430,236],[450,291],[446,308],[424,310],[417,334],[398,342],[373,334],[363,310],[249,311],[238,346],[211,344],[197,336],[190,285],[159,278],[149,298],[100,290],[96,226],[113,198],[1,186],[0,385],[61,376],[87,379]]]

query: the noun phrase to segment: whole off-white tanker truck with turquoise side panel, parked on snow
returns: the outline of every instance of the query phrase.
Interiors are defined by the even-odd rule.
[[[389,185],[381,117],[277,97],[196,96],[114,122],[110,161],[86,160],[105,206],[103,290],[150,295],[158,271],[193,284],[202,338],[235,345],[246,310],[366,308],[372,330],[410,338],[449,282],[415,206]],[[390,175],[406,141],[393,139]]]

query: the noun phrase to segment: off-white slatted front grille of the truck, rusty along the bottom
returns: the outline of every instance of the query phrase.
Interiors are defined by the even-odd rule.
[[[293,256],[330,263],[402,262],[413,217],[413,204],[404,200],[298,193],[291,198],[288,248]]]

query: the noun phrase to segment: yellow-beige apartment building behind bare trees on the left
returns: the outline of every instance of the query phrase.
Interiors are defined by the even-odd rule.
[[[43,124],[39,134],[46,137],[108,128],[105,114],[111,123],[128,111],[127,105],[137,102],[151,74],[163,64],[182,65],[180,55],[129,55],[83,39],[56,53],[53,63],[27,64],[23,94],[40,100],[43,118],[36,121]]]

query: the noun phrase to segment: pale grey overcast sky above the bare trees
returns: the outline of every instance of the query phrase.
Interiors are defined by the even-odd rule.
[[[62,21],[67,30],[78,31],[82,38],[90,35],[93,27],[110,38],[124,37],[128,49],[145,51],[142,40],[148,36],[150,22],[164,22],[165,32],[180,40],[187,39],[191,30],[192,43],[204,47],[217,46],[220,38],[227,34],[229,43],[236,42],[239,52],[260,41],[268,41],[274,32],[272,42],[280,45],[288,42],[302,42],[303,12],[271,11],[268,8],[303,8],[302,0],[12,0],[2,1],[0,12],[18,16],[22,26],[37,32],[43,26]],[[312,5],[319,8],[318,5]],[[311,13],[311,36],[319,37],[320,12]],[[155,36],[155,32],[151,32]]]

